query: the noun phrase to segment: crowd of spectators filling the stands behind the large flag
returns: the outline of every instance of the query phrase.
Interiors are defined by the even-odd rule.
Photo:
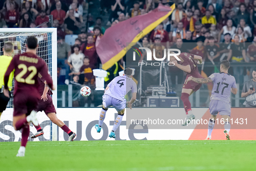
[[[2,0],[0,27],[48,27],[45,22],[49,21],[48,15],[53,15],[53,27],[58,30],[58,84],[89,85],[94,89],[92,70],[101,67],[95,48],[97,37],[104,36],[108,27],[149,13],[159,4],[173,3],[176,8],[171,16],[143,37],[141,45],[156,48],[159,58],[163,48],[172,47],[200,55],[210,65],[224,59],[231,65],[241,63],[230,71],[237,83],[243,84],[246,75],[251,77],[253,68],[246,67],[246,63],[256,62],[256,0]],[[100,10],[97,17],[90,15],[94,5]],[[75,44],[68,44],[66,35],[78,35]],[[125,59],[107,71],[106,84],[123,70]],[[214,71],[213,66],[204,69],[207,75]],[[176,68],[169,71],[172,86],[181,84],[184,73]]]

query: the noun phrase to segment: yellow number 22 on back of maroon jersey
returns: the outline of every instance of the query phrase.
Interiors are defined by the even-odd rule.
[[[15,79],[16,81],[20,83],[26,83],[26,84],[35,84],[35,80],[32,80],[32,78],[36,75],[37,69],[35,66],[29,66],[27,67],[25,64],[19,64],[19,69],[22,69],[22,71],[16,75]],[[23,76],[28,72],[32,71],[26,78],[23,78]]]

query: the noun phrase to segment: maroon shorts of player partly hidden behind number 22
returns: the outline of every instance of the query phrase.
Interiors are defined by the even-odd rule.
[[[48,100],[44,101],[43,99],[39,101],[37,106],[37,111],[44,111],[47,115],[48,113],[56,113],[55,107],[52,103],[52,97],[47,94]]]

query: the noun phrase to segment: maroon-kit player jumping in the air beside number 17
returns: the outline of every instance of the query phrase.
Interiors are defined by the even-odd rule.
[[[188,97],[193,94],[195,91],[199,90],[202,84],[195,83],[194,81],[187,81],[189,76],[193,76],[196,78],[202,78],[201,74],[198,72],[198,64],[202,64],[202,57],[198,55],[192,55],[190,53],[182,52],[180,55],[176,55],[181,61],[177,61],[177,59],[173,56],[170,57],[170,61],[172,61],[175,66],[182,71],[185,71],[187,76],[185,83],[183,84],[181,91],[181,100],[184,104],[184,109],[186,112],[187,119],[183,126],[187,125],[188,120],[192,120],[195,116],[191,110],[191,103],[188,100]],[[194,61],[197,60],[198,62]]]

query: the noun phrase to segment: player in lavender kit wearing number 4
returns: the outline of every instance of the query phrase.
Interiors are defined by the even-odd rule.
[[[132,99],[127,102],[127,107],[132,109],[132,103],[136,100],[137,86],[132,79],[131,68],[126,68],[124,70],[123,76],[115,77],[106,87],[105,93],[102,96],[103,107],[100,111],[99,124],[95,125],[97,132],[100,132],[102,128],[103,121],[106,116],[106,112],[110,106],[113,106],[117,110],[117,118],[112,131],[109,134],[110,138],[116,138],[115,131],[122,122],[123,114],[126,106],[125,95],[132,90]]]

